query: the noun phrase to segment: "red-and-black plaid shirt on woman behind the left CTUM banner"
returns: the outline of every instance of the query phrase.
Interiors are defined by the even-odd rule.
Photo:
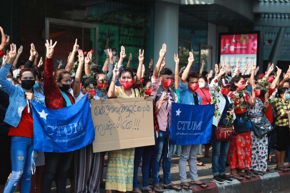
[[[54,85],[53,81],[54,64],[52,58],[46,58],[44,66],[44,78],[43,78],[43,94],[45,95],[45,105],[49,109],[62,109],[66,107],[65,99],[60,93],[60,90]],[[69,100],[72,104],[75,103],[72,95],[66,91]]]

